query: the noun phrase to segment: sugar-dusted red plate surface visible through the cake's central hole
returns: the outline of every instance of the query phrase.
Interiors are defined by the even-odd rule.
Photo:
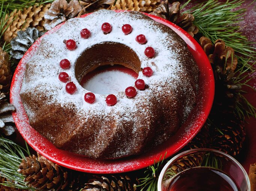
[[[134,85],[138,73],[122,65],[106,65],[87,73],[81,80],[86,90],[96,94],[115,94]]]

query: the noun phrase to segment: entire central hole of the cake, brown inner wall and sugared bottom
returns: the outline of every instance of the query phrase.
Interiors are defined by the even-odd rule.
[[[121,43],[105,42],[84,50],[75,62],[75,76],[83,88],[114,94],[134,85],[141,69],[137,54]]]

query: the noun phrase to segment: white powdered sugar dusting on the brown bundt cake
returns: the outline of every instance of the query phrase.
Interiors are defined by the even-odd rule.
[[[100,18],[100,19],[99,19]],[[139,18],[139,19],[138,19]],[[103,21],[104,20],[104,21]],[[118,22],[115,22],[118,21]],[[109,22],[112,25],[111,33],[105,35],[100,29],[103,22]],[[121,26],[129,23],[133,27],[133,31],[129,35],[124,35],[121,32]],[[83,28],[88,28],[91,31],[91,37],[82,39],[79,32]],[[141,45],[135,41],[135,37],[139,34],[145,34],[147,44]],[[73,39],[76,41],[78,48],[73,51],[66,49],[63,40]],[[145,91],[138,91],[135,98],[127,98],[124,91],[116,94],[117,104],[109,107],[105,103],[106,95],[95,94],[96,102],[88,104],[84,101],[84,94],[88,90],[84,89],[75,78],[74,64],[81,53],[95,44],[104,42],[122,43],[138,55],[141,60],[141,67],[150,66],[154,74],[150,78],[145,77],[142,72],[139,72],[139,79],[144,79],[148,84]],[[122,128],[125,123],[131,123],[132,131],[130,132],[129,144],[126,147],[115,148],[115,153],[112,157],[126,156],[136,153],[135,151],[143,141],[146,140],[147,134],[151,133],[152,123],[156,117],[154,108],[152,108],[152,100],[161,103],[166,95],[174,98],[173,107],[178,108],[179,98],[187,93],[193,92],[192,82],[186,79],[186,68],[183,68],[183,60],[180,55],[183,51],[187,51],[183,44],[179,48],[170,48],[174,43],[179,43],[176,38],[162,31],[156,26],[156,22],[145,20],[140,15],[130,15],[128,13],[115,13],[108,10],[101,10],[93,13],[86,18],[69,19],[61,28],[53,34],[43,38],[37,53],[27,63],[26,70],[28,75],[25,75],[20,91],[21,95],[34,95],[33,98],[42,99],[47,97],[47,102],[43,101],[43,105],[60,104],[61,107],[68,109],[76,109],[74,118],[81,122],[87,123],[89,120],[94,123],[98,122],[97,118],[104,119],[104,123],[113,125],[111,136],[105,135],[108,131],[108,125],[104,128],[102,125],[99,132],[94,135],[94,140],[88,150],[77,148],[77,153],[87,153],[89,156],[100,156],[109,143],[103,140],[118,139],[118,134],[123,135],[126,129]],[[144,55],[146,47],[152,46],[156,51],[156,56],[152,59]],[[71,77],[71,80],[76,84],[77,91],[75,94],[67,94],[65,83],[58,80],[58,74],[63,71],[59,67],[61,59],[68,59],[71,63],[69,70],[66,70]],[[33,83],[31,83],[33,82]],[[47,87],[47,90],[46,90]],[[182,95],[177,88],[182,87]],[[195,100],[187,98],[184,103],[184,119],[190,113]],[[37,113],[31,109],[27,103],[23,103],[30,121],[36,121]],[[173,111],[175,113],[175,111]],[[141,116],[137,114],[143,114]],[[92,117],[93,116],[93,117]],[[123,125],[122,125],[123,124]],[[105,131],[104,131],[105,129]],[[142,131],[142,129],[144,129]],[[79,132],[73,131],[74,135]],[[50,134],[45,135],[52,142],[55,137]],[[168,139],[171,135],[163,135],[162,141]],[[144,140],[141,139],[144,137]],[[114,139],[113,138],[113,139]],[[122,141],[122,137],[120,137]],[[127,140],[128,141],[128,140]]]

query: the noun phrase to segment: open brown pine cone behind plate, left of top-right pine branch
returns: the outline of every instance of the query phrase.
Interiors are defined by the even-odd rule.
[[[198,28],[193,24],[194,16],[189,13],[180,13],[180,3],[174,2],[169,7],[168,0],[162,1],[157,9],[150,13],[167,19],[187,31],[192,37],[198,33]]]

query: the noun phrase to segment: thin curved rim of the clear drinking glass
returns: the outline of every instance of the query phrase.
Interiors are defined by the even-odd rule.
[[[175,155],[174,157],[172,157],[168,163],[165,164],[165,166],[163,167],[163,169],[161,170],[160,172],[160,175],[159,175],[159,179],[157,181],[157,190],[158,191],[161,191],[162,190],[162,179],[163,179],[163,176],[165,175],[165,172],[167,170],[167,168],[169,167],[169,165],[174,162],[176,159],[178,159],[179,157],[185,155],[185,154],[188,154],[188,153],[192,153],[192,152],[195,152],[195,151],[211,151],[211,152],[215,152],[215,153],[219,153],[219,154],[222,154],[226,157],[228,157],[230,160],[232,160],[233,162],[235,162],[239,167],[240,169],[242,170],[243,174],[244,174],[244,177],[246,179],[246,182],[247,182],[247,191],[251,191],[251,185],[250,185],[250,180],[249,180],[249,176],[247,175],[247,172],[246,170],[244,169],[244,167],[232,156],[230,156],[229,154],[226,154],[222,151],[219,151],[219,150],[216,150],[216,149],[212,149],[212,148],[194,148],[194,149],[190,149],[190,150],[186,150],[186,151],[183,151],[181,152],[180,154],[177,154]]]

